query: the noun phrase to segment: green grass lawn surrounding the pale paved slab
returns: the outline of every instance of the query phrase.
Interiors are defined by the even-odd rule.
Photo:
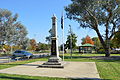
[[[104,54],[73,54],[72,59],[70,54],[65,54],[65,61],[79,61],[79,62],[96,62],[96,66],[101,79],[104,80],[120,80],[120,54],[112,54],[113,58],[104,58]],[[94,57],[93,57],[94,56]],[[99,58],[99,57],[100,58]],[[118,56],[119,58],[115,57]],[[62,55],[61,55],[62,57]],[[11,63],[0,64],[0,69],[13,67],[25,63],[35,61],[47,61],[47,58],[31,59],[25,61],[17,61]],[[75,80],[65,78],[49,78],[49,77],[37,77],[37,76],[25,76],[25,75],[11,75],[11,74],[0,74],[0,80]]]

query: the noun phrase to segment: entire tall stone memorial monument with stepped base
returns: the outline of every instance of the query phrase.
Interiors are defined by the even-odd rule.
[[[56,16],[52,17],[52,38],[51,38],[51,57],[47,62],[43,63],[39,67],[43,68],[64,68],[63,62],[61,62],[61,58],[59,57],[58,51],[58,39],[57,39],[57,22]]]

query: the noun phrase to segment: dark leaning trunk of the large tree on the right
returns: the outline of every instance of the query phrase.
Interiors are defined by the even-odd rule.
[[[107,47],[108,45],[105,44],[105,41],[103,40],[99,30],[95,29],[95,31],[96,31],[96,33],[97,33],[97,35],[98,35],[98,37],[100,39],[100,42],[101,42],[101,44],[102,44],[102,46],[103,46],[103,48],[105,50],[105,57],[109,57],[110,56],[110,52],[109,52],[109,47]]]

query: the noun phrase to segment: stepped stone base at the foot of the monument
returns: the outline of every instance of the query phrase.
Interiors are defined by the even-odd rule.
[[[51,57],[49,60],[38,67],[42,68],[64,68],[64,63],[61,62],[60,58]]]

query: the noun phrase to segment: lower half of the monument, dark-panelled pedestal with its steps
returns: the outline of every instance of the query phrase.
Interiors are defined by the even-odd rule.
[[[64,68],[63,62],[61,62],[61,58],[59,57],[58,46],[57,46],[57,38],[52,37],[51,44],[51,57],[47,62],[43,63],[39,67],[43,68]]]

